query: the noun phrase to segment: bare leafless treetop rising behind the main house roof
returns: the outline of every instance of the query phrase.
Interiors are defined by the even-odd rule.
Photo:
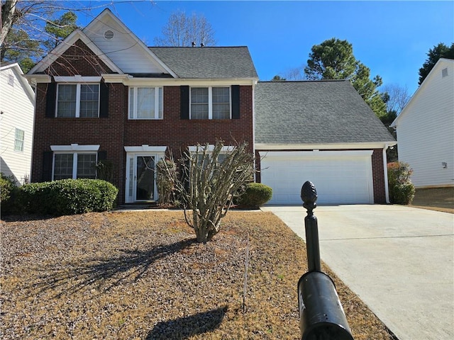
[[[204,46],[216,45],[214,30],[203,15],[192,13],[187,16],[182,11],[170,14],[166,26],[162,28],[162,38],[155,38],[157,46],[188,47],[192,42]]]

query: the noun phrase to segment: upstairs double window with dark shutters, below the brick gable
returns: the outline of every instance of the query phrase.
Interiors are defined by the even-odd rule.
[[[99,116],[99,84],[58,84],[57,117]]]

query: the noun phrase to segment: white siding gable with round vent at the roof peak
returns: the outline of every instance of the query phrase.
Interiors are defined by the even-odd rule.
[[[124,73],[169,73],[110,11],[101,13],[83,32]]]

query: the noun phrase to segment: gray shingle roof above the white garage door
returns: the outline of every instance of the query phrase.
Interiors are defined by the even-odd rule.
[[[390,142],[349,81],[264,81],[255,87],[255,142]]]

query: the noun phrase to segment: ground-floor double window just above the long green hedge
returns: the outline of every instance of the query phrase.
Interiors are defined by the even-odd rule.
[[[96,154],[56,153],[53,179],[96,179]]]

